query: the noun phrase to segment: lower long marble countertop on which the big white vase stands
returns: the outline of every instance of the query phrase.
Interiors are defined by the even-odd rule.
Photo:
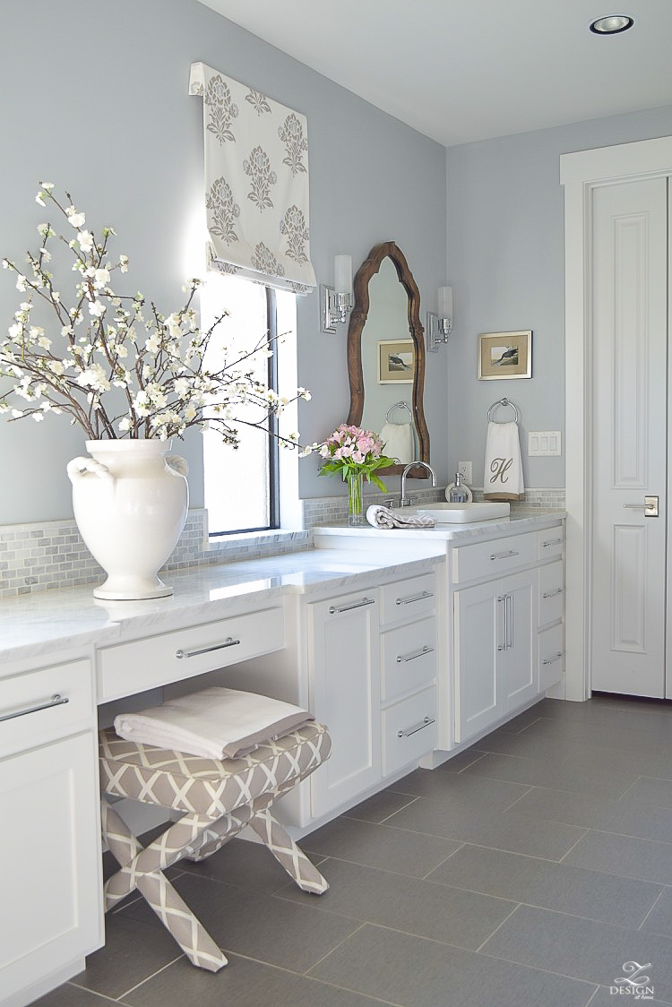
[[[92,584],[9,598],[0,603],[0,666],[55,649],[112,643],[147,630],[210,621],[240,610],[241,601],[258,605],[324,586],[340,590],[381,571],[412,576],[414,568],[419,572],[427,562],[408,556],[391,559],[366,549],[310,549],[170,571],[165,581],[173,594],[167,598],[103,601],[94,598]]]

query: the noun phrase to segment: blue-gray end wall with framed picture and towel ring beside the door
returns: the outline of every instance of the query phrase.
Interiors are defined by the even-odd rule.
[[[560,154],[671,133],[668,107],[448,148],[448,278],[454,287],[448,464],[472,459],[475,485],[483,485],[488,407],[503,396],[521,410],[526,485],[565,484],[564,454],[528,458],[526,450],[529,430],[564,433]],[[532,379],[479,381],[478,334],[516,329],[534,333]],[[497,419],[512,415],[501,410]]]

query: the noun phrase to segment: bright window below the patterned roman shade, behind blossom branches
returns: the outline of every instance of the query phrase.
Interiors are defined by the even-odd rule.
[[[235,343],[238,351],[253,348],[266,333],[294,332],[296,305],[294,294],[272,290],[235,276],[210,273],[200,290],[201,325],[207,327],[227,311],[228,318],[219,326],[210,352],[218,345]],[[255,362],[255,377],[278,391],[278,349],[267,358],[260,354]],[[210,362],[214,367],[215,361]],[[258,420],[259,410],[249,407],[250,420]],[[237,411],[237,418],[245,412]],[[215,430],[204,432],[205,503],[211,536],[234,532],[252,532],[279,528],[279,449],[275,437],[262,430],[238,425],[240,446],[224,444]],[[277,432],[277,420],[269,423]]]

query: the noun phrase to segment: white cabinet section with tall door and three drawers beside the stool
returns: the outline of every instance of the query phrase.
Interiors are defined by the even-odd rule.
[[[322,818],[436,747],[436,577],[305,608],[311,708],[331,736],[310,777],[310,814]]]

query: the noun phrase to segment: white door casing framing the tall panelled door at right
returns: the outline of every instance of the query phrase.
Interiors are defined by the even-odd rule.
[[[590,253],[596,186],[672,174],[672,137],[563,154],[565,196],[565,449],[567,510],[565,697],[590,695],[592,582],[592,326]],[[663,417],[659,423],[664,424]],[[668,641],[669,649],[669,641]],[[668,653],[669,659],[669,653]],[[669,688],[669,687],[668,687]]]

